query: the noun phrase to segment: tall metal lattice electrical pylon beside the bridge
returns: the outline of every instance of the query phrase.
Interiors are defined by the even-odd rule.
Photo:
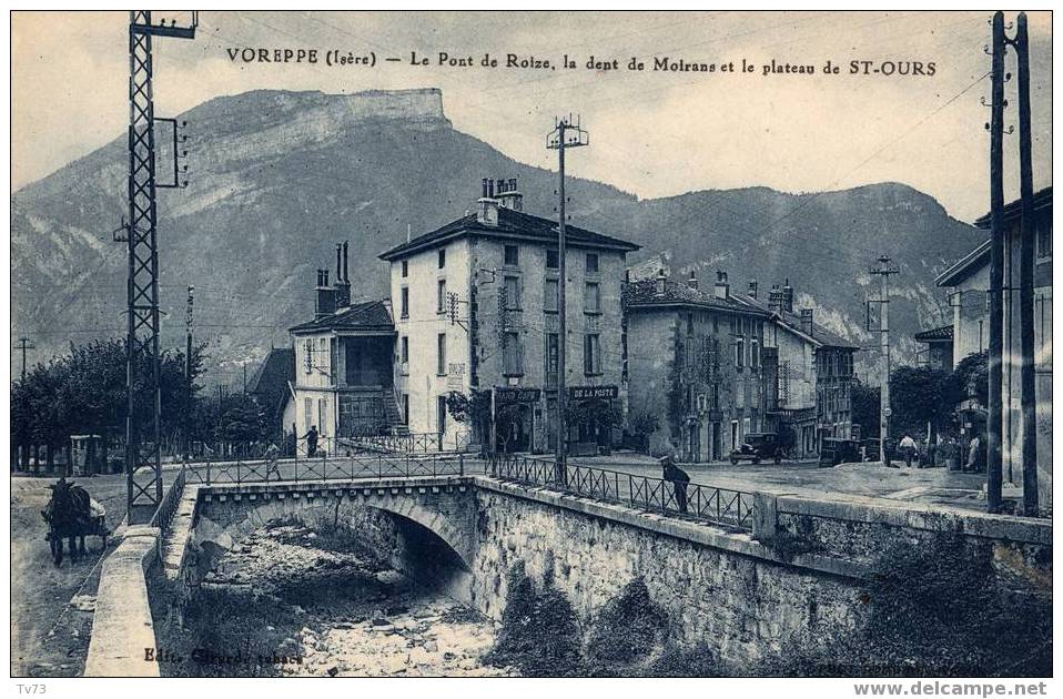
[[[152,24],[150,10],[129,13],[129,219],[122,237],[129,247],[125,502],[130,524],[142,523],[144,515],[154,511],[162,502],[155,188],[179,184],[155,181],[151,38],[193,39],[196,14],[192,12],[188,27],[178,27],[175,20],[170,24],[165,20]],[[174,152],[173,158],[178,156]],[[148,429],[142,429],[140,422],[145,414],[151,414],[152,419]]]

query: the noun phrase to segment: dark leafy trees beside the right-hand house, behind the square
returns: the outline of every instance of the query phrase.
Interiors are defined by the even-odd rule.
[[[934,433],[951,433],[955,423],[955,406],[968,398],[981,405],[989,403],[986,354],[972,354],[949,372],[924,366],[901,366],[890,374],[890,432],[925,433],[928,425]],[[864,436],[879,435],[880,391],[861,383],[852,387],[852,422],[859,424]]]

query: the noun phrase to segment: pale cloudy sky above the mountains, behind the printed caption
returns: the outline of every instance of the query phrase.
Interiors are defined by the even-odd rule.
[[[156,17],[159,14],[156,13]],[[186,21],[188,13],[165,14]],[[256,89],[353,93],[435,87],[454,126],[518,161],[556,168],[546,134],[579,114],[590,146],[573,175],[640,197],[765,185],[818,192],[897,181],[953,216],[988,211],[988,12],[212,12],[194,41],[156,39],[155,113]],[[1009,21],[1013,14],[1008,16]],[[1012,29],[1012,31],[1014,31]],[[1034,184],[1051,184],[1051,16],[1031,13]],[[374,52],[377,64],[244,63],[227,50]],[[412,65],[411,54],[429,59]],[[437,65],[438,53],[473,68]],[[485,53],[549,60],[555,70],[485,69]],[[576,69],[559,65],[568,54]],[[385,57],[401,58],[386,62]],[[618,70],[587,69],[594,57]],[[627,70],[636,57],[644,71]],[[742,61],[751,73],[654,71],[655,58]],[[839,74],[823,74],[830,60]],[[763,65],[812,65],[811,75]],[[899,67],[850,74],[851,61]],[[889,62],[889,63],[885,63]],[[933,75],[911,74],[913,62]],[[861,64],[862,65],[862,64]],[[1008,70],[1016,72],[1014,53]],[[901,75],[900,72],[908,74]],[[125,12],[12,14],[12,186],[124,133]],[[1013,79],[1005,123],[1018,129]],[[193,125],[194,129],[194,125]],[[1005,193],[1018,196],[1018,133],[1006,136]]]

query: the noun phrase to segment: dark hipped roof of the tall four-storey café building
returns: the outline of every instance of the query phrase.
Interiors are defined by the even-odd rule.
[[[441,242],[462,237],[463,235],[484,235],[487,237],[514,237],[534,240],[541,243],[557,242],[557,222],[540,216],[534,216],[522,211],[514,211],[505,206],[498,207],[498,225],[480,223],[476,214],[467,214],[447,223],[424,235],[418,235],[408,243],[392,247],[381,253],[381,260],[397,260],[432,247]],[[635,243],[610,237],[575,225],[565,226],[565,242],[578,247],[600,247],[634,252],[639,249]]]

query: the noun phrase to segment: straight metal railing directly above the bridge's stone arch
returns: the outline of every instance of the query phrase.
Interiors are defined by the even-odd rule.
[[[464,476],[473,466],[464,454],[355,454],[301,459],[205,462],[186,467],[188,483],[226,485],[270,482],[357,480],[361,478],[412,478]]]

